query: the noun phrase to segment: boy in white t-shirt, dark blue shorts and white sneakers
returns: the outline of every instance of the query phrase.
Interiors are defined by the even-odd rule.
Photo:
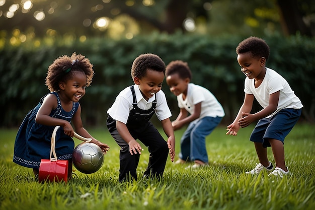
[[[260,163],[246,173],[258,174],[265,169],[271,172],[269,175],[283,177],[289,173],[284,161],[284,138],[299,119],[303,105],[287,81],[266,67],[269,46],[263,39],[249,37],[236,51],[241,71],[246,75],[245,99],[237,117],[227,126],[226,134],[237,135],[240,127],[259,120],[250,141],[254,142]],[[251,114],[254,98],[263,109]],[[268,160],[267,147],[272,149],[276,168]]]

